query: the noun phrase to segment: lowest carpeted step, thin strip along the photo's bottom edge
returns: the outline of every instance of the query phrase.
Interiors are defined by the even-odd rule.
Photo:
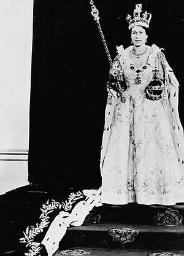
[[[145,250],[145,249],[109,249],[98,247],[74,247],[66,250],[58,250],[55,256],[61,255],[90,255],[90,256],[183,256],[182,250]]]

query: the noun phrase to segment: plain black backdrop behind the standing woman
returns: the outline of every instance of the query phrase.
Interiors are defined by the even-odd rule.
[[[131,0],[95,0],[112,58],[115,46],[131,44],[126,16]],[[144,0],[152,14],[148,45],[164,48],[180,82],[183,105],[182,0]],[[87,0],[35,0],[29,182],[45,190],[98,188],[109,61]]]

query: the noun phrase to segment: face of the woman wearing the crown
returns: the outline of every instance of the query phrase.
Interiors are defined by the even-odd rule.
[[[131,31],[131,39],[134,46],[142,46],[147,40],[147,33],[142,26],[134,26]]]

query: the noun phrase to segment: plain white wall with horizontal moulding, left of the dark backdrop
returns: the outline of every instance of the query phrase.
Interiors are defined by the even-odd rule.
[[[0,0],[0,194],[28,185],[33,0]]]

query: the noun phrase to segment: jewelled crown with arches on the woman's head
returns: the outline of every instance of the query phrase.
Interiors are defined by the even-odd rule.
[[[142,12],[142,4],[136,4],[136,9],[134,10],[134,18],[131,17],[131,15],[128,14],[126,17],[126,20],[128,21],[128,29],[130,30],[133,26],[145,26],[145,28],[149,27],[150,20],[151,20],[151,14],[148,14],[148,12],[145,12],[142,14],[142,17],[140,17],[140,12]]]

